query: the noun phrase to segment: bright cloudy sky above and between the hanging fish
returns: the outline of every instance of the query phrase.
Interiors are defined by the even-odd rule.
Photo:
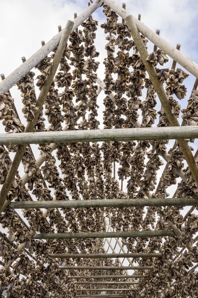
[[[122,5],[123,1],[116,2]],[[132,15],[138,17],[140,13],[141,21],[150,29],[153,31],[159,29],[160,36],[173,46],[180,43],[181,51],[198,63],[197,0],[126,0],[125,2],[126,9]],[[58,25],[64,28],[68,19],[73,20],[75,12],[79,15],[87,6],[87,0],[0,0],[0,73],[7,76],[13,72],[22,63],[22,56],[26,59],[30,58],[41,47],[42,40],[47,43],[58,33]],[[100,53],[98,75],[103,79],[102,62],[106,57],[104,47],[107,42],[103,29],[100,28],[100,24],[105,22],[102,7],[93,14],[93,18],[99,21],[95,45]],[[171,63],[172,59],[169,66]],[[185,81],[188,94],[180,102],[184,108],[194,81],[193,75]],[[17,87],[11,89],[11,94],[15,98],[15,105],[22,119],[21,97]],[[102,102],[103,98],[104,93],[101,92],[99,102]],[[160,109],[160,105],[158,107]],[[102,123],[102,108],[100,108],[99,118]],[[25,119],[22,122],[26,125]],[[4,132],[1,124],[0,132]],[[37,157],[37,154],[35,155]]]

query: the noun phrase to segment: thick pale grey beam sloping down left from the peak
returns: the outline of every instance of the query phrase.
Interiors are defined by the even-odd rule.
[[[100,5],[101,0],[95,0],[87,9],[85,9],[76,19],[73,20],[74,31],[79,27]],[[25,63],[20,65],[15,71],[9,74],[3,82],[0,82],[0,94],[7,92],[14,86],[25,74],[28,74],[41,60],[43,60],[59,44],[64,30],[61,30],[52,39],[49,40],[41,49],[32,55]]]

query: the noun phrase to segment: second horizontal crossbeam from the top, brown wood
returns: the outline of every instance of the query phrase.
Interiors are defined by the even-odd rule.
[[[134,198],[124,200],[71,200],[71,201],[20,201],[11,202],[7,209],[39,208],[94,208],[94,207],[145,207],[145,206],[198,206],[196,198]]]

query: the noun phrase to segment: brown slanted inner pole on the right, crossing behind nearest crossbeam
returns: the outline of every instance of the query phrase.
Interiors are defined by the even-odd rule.
[[[172,107],[168,101],[168,97],[166,95],[166,92],[163,88],[163,84],[160,82],[160,80],[156,76],[156,71],[154,66],[147,61],[148,57],[148,51],[145,47],[145,44],[140,36],[140,33],[138,31],[138,28],[136,26],[136,23],[134,21],[134,18],[129,15],[125,18],[126,24],[128,25],[129,29],[131,29],[131,35],[133,37],[133,40],[137,46],[137,49],[140,53],[140,57],[147,69],[148,75],[152,81],[152,84],[154,86],[154,89],[159,97],[159,100],[161,101],[161,105],[164,109],[164,112],[166,113],[167,119],[171,126],[180,126],[179,122],[174,114],[172,114]],[[157,35],[158,36],[158,35]],[[157,45],[157,44],[156,44]],[[181,53],[177,49],[173,48],[178,53]],[[167,53],[167,52],[166,52]],[[174,59],[177,62],[177,59]],[[185,138],[184,138],[185,139]],[[189,169],[192,173],[192,176],[196,182],[196,185],[198,186],[198,165],[195,161],[195,158],[193,156],[193,153],[185,140],[177,139],[179,147],[184,154],[184,158],[186,159]]]

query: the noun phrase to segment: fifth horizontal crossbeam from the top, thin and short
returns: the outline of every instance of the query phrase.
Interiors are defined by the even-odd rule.
[[[152,266],[58,266],[67,270],[152,270]]]

